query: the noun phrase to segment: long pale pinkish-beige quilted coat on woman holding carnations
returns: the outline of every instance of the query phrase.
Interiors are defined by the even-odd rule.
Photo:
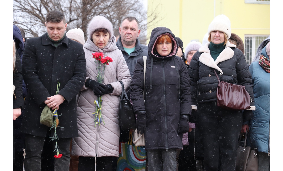
[[[97,80],[98,71],[92,53],[103,52],[105,57],[109,56],[113,59],[113,62],[106,66],[104,75],[104,84],[111,84],[113,92],[102,96],[102,117],[105,125],[102,123],[100,126],[95,126],[95,116],[92,114],[96,108],[94,101],[97,100],[97,96],[91,89],[83,86],[77,98],[79,137],[73,138],[71,154],[87,157],[119,157],[118,111],[122,89],[119,81],[123,81],[126,90],[130,88],[131,76],[128,66],[122,52],[116,46],[114,36],[103,50],[95,46],[89,38],[83,49],[87,65],[86,79]]]

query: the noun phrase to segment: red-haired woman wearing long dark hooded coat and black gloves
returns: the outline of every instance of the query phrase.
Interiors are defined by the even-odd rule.
[[[170,29],[156,27],[149,40],[145,81],[143,57],[134,70],[131,99],[138,133],[145,136],[149,170],[177,170],[177,149],[183,149],[182,134],[189,130],[188,70],[177,49]]]

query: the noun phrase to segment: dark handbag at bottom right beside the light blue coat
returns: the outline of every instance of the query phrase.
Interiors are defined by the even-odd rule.
[[[245,136],[244,146],[238,147],[236,155],[236,171],[258,171],[258,156],[257,148],[246,146],[247,133]],[[244,136],[244,135],[243,135]],[[240,144],[241,137],[239,138]]]

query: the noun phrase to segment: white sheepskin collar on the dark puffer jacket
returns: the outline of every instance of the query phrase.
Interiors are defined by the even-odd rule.
[[[201,46],[198,50],[200,53],[202,53],[199,57],[199,60],[201,63],[205,64],[206,66],[209,66],[211,68],[214,68],[218,70],[219,72],[222,72],[222,70],[217,66],[220,62],[223,62],[224,60],[228,60],[234,56],[234,51],[230,47],[236,47],[236,45],[230,44],[228,41],[225,49],[219,54],[219,56],[216,58],[215,62],[213,58],[211,57],[210,50],[209,50],[209,44],[210,42],[206,43],[205,45]]]

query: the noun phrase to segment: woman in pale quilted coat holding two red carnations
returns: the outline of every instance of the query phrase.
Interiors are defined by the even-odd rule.
[[[119,157],[120,127],[118,111],[122,86],[130,88],[131,76],[122,52],[116,46],[112,23],[103,16],[95,16],[88,25],[88,38],[83,49],[87,75],[77,100],[79,137],[73,138],[72,155],[78,155],[79,171],[115,170]],[[103,53],[113,62],[106,65],[104,81],[98,83],[98,69],[93,53]],[[104,123],[96,124],[98,96],[102,96],[101,113]],[[97,165],[97,166],[96,166]]]

